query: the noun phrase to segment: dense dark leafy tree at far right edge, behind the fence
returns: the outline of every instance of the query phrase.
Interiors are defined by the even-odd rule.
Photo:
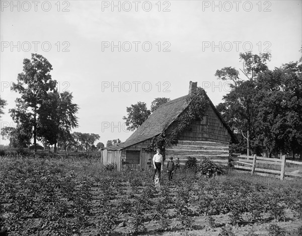
[[[270,154],[302,154],[302,65],[291,62],[268,70],[257,83],[257,144]]]

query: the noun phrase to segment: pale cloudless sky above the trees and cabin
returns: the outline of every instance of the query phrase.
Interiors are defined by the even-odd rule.
[[[72,132],[99,134],[105,145],[131,135],[126,107],[184,96],[190,81],[222,102],[230,89],[214,74],[242,68],[239,53],[270,52],[270,69],[301,56],[302,1],[0,2],[1,128],[16,126],[11,85],[31,53],[47,58],[58,90],[79,105]]]

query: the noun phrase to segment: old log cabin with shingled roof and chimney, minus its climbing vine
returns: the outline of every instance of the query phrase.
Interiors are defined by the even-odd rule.
[[[197,82],[190,82],[189,93],[196,88]],[[147,152],[146,148],[153,137],[161,134],[164,128],[169,128],[188,107],[187,97],[185,95],[163,104],[124,143],[102,150],[103,162],[116,163],[118,170],[125,167],[147,169],[155,152]],[[194,156],[197,160],[202,156],[211,156],[215,160],[228,162],[229,146],[234,134],[208,96],[205,95],[205,98],[209,106],[203,120],[193,121],[181,134],[177,145],[166,148],[165,153],[162,153],[166,160],[173,156],[174,160],[179,158],[181,163],[185,163],[188,156]]]

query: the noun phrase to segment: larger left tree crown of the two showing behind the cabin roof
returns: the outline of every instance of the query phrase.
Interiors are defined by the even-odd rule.
[[[127,129],[130,131],[137,129],[151,114],[144,102],[131,105],[126,108],[126,111],[128,115],[127,117],[124,116],[123,120],[126,120]]]

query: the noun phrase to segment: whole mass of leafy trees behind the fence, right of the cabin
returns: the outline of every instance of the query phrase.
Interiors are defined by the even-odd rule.
[[[230,93],[216,106],[223,119],[237,134],[237,151],[247,146],[254,153],[302,152],[302,65],[290,62],[269,70],[270,54],[241,53],[242,80],[232,67],[217,70],[221,80],[233,83]],[[244,139],[242,139],[240,136]]]

